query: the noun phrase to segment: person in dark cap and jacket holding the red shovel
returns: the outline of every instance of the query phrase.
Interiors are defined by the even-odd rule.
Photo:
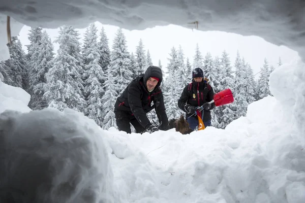
[[[204,80],[203,71],[199,67],[192,72],[192,83],[188,84],[181,93],[178,100],[178,107],[187,113],[187,121],[192,130],[195,130],[198,126],[198,117],[196,112],[196,107],[204,105],[203,111],[198,115],[204,123],[204,126],[211,125],[211,113],[215,105],[206,104],[211,101],[214,97],[214,90],[211,86]],[[200,115],[201,114],[201,115]]]

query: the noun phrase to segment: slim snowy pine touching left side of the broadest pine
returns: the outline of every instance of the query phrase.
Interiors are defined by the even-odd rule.
[[[29,107],[33,110],[39,110],[48,107],[48,102],[43,95],[47,82],[46,74],[52,67],[54,59],[54,47],[46,30],[42,31],[40,41],[32,48],[36,48],[37,52],[29,56],[28,61],[28,64],[31,65],[30,85],[32,93]]]

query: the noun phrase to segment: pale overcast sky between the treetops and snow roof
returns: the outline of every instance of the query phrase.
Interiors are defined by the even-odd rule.
[[[113,25],[102,25],[96,22],[100,32],[104,26],[109,39],[109,47],[112,47],[112,41],[118,29]],[[24,26],[20,31],[19,39],[23,45],[23,49],[27,52],[25,45],[29,44],[27,39],[28,30],[30,27]],[[58,36],[59,29],[46,29],[51,37],[52,42]],[[85,29],[79,30],[81,43]],[[136,50],[140,38],[143,40],[145,50],[149,49],[151,59],[154,65],[158,65],[159,59],[165,68],[167,66],[170,49],[174,46],[178,48],[182,46],[185,56],[189,57],[191,64],[193,64],[193,57],[195,54],[196,43],[199,44],[200,51],[203,55],[210,52],[213,57],[221,56],[223,50],[229,53],[231,65],[234,65],[236,52],[239,50],[240,56],[245,57],[246,62],[249,62],[254,70],[254,74],[260,71],[260,67],[264,63],[266,57],[270,64],[277,67],[279,57],[282,62],[290,62],[295,57],[298,57],[296,51],[293,51],[285,46],[276,46],[266,42],[257,36],[241,36],[235,33],[221,32],[221,31],[199,31],[196,29],[185,28],[177,25],[156,26],[154,28],[147,28],[145,30],[126,30],[123,29],[128,49],[130,52]],[[58,44],[54,44],[55,53],[58,49]],[[259,74],[257,75],[257,77]],[[257,78],[256,77],[256,78]]]

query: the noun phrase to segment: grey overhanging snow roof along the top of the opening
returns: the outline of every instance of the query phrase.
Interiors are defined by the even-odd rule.
[[[2,2],[1,13],[25,25],[45,28],[63,24],[84,28],[94,21],[127,29],[168,24],[197,28],[198,25],[203,31],[260,36],[298,51],[305,59],[304,1],[13,0]],[[6,23],[4,17],[2,24]],[[1,39],[7,39],[5,34],[3,31]]]

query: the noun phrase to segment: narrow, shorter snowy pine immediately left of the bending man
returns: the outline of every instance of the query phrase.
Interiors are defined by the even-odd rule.
[[[115,115],[114,115],[114,104],[116,101],[116,98],[118,96],[117,89],[118,85],[114,82],[113,73],[115,72],[114,69],[108,69],[107,70],[107,77],[106,81],[104,83],[104,87],[106,89],[106,92],[104,96],[102,97],[102,104],[103,104],[103,114],[105,115],[102,123],[102,128],[108,130],[110,127],[116,126],[115,121]]]

